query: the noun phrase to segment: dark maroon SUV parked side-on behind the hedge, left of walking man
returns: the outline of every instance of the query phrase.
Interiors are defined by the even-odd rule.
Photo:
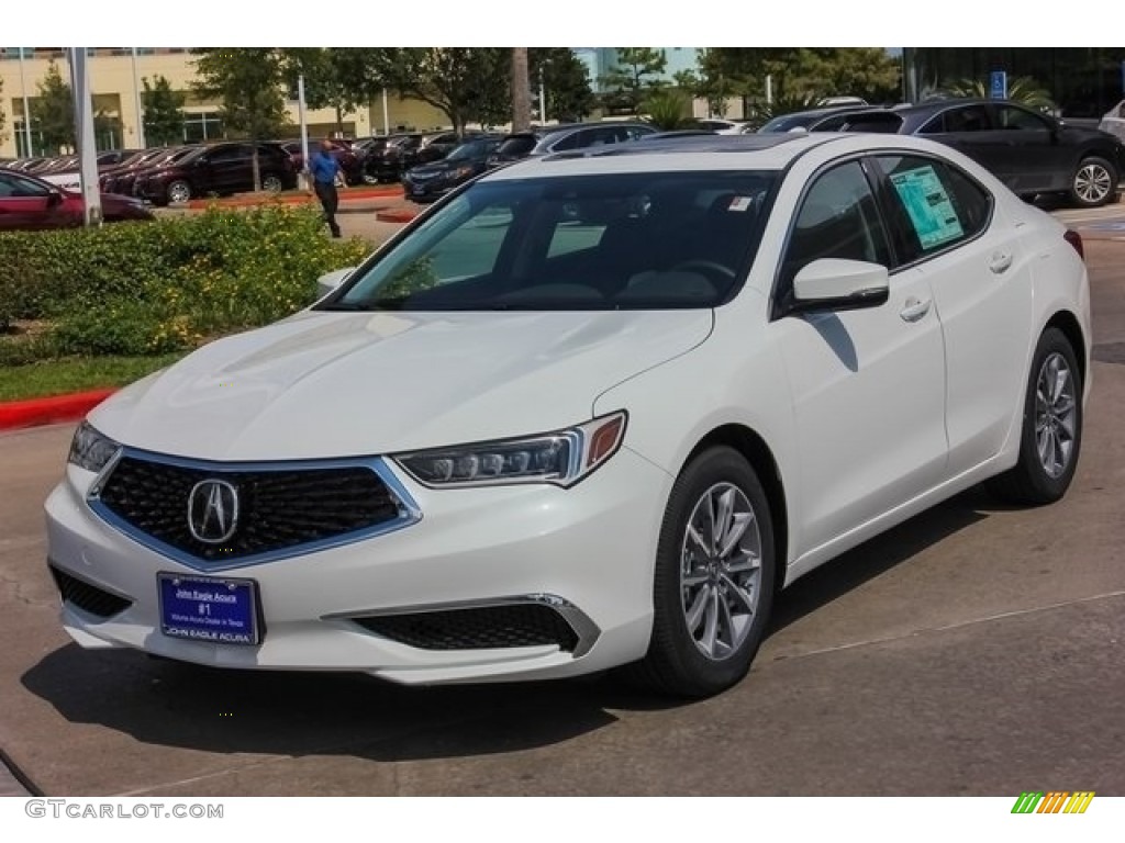
[[[253,152],[254,145],[250,142],[201,147],[138,176],[133,194],[153,205],[168,205],[209,193],[224,196],[253,190]],[[276,193],[297,187],[292,160],[278,144],[258,144],[258,167],[263,190]]]

